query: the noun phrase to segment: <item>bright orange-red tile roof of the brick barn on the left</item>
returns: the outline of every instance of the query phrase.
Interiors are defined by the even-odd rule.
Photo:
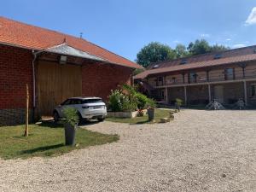
[[[27,49],[47,49],[62,44],[64,38],[66,38],[67,44],[73,48],[80,49],[90,55],[101,57],[110,63],[125,67],[140,68],[137,63],[115,55],[107,49],[92,44],[83,38],[76,38],[61,32],[55,32],[0,17],[0,44],[15,44]]]

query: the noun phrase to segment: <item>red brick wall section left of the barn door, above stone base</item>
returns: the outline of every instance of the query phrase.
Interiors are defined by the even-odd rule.
[[[0,109],[26,108],[26,84],[32,106],[32,51],[0,44]]]

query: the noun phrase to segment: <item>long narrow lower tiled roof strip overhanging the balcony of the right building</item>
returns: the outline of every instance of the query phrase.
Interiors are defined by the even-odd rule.
[[[232,64],[232,63],[255,61],[255,60],[256,60],[256,54],[230,56],[230,57],[217,59],[217,60],[199,61],[199,62],[193,62],[190,64],[174,65],[171,67],[160,67],[156,69],[149,69],[144,71],[143,73],[137,74],[134,77],[134,79],[144,79],[150,74],[177,72],[177,71],[189,70],[189,69],[195,69],[195,68],[201,68],[201,67],[213,67],[213,66],[219,66],[224,64]]]

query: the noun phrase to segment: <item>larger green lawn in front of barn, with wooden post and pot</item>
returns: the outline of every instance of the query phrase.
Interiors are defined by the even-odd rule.
[[[0,127],[0,157],[3,159],[29,158],[32,156],[56,156],[73,149],[112,143],[118,135],[106,135],[79,128],[77,147],[65,146],[64,128],[52,123],[30,125],[29,137],[23,137],[25,125]]]

